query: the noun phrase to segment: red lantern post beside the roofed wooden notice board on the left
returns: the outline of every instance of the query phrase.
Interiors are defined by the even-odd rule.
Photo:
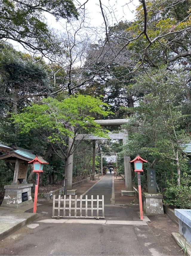
[[[36,172],[36,182],[35,182],[35,198],[34,198],[34,207],[33,213],[36,213],[37,209],[37,197],[38,197],[38,182],[39,182],[39,173],[43,172],[44,164],[48,164],[42,157],[36,156],[35,159],[28,162],[29,164],[33,163],[33,172]]]

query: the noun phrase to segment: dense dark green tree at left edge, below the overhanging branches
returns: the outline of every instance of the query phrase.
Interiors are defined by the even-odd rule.
[[[2,111],[17,113],[31,100],[53,91],[44,61],[34,63],[28,54],[16,51],[9,44],[1,43],[0,99]]]

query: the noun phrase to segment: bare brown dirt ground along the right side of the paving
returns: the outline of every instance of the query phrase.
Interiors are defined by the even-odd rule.
[[[121,190],[126,190],[124,180],[114,179],[114,185],[115,204],[125,204],[131,206],[132,203],[138,204],[138,199],[136,197],[121,196]],[[134,207],[137,211],[139,211],[139,205],[134,205]],[[178,225],[169,219],[166,214],[164,214],[164,216],[148,216],[148,218],[151,222],[147,222],[147,224],[157,243],[160,243],[161,246],[168,251],[169,255],[184,255],[184,253],[180,251],[181,248],[171,237],[172,232],[179,232]]]

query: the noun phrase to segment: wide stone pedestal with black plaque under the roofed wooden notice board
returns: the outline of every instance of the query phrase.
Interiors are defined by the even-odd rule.
[[[32,204],[31,187],[33,184],[13,184],[4,186],[5,195],[1,206],[20,208]]]

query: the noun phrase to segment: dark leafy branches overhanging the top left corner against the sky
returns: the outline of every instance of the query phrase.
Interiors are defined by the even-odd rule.
[[[61,42],[48,28],[44,13],[56,20],[78,18],[72,0],[4,0],[0,5],[0,39],[10,39],[42,55],[56,54]]]

